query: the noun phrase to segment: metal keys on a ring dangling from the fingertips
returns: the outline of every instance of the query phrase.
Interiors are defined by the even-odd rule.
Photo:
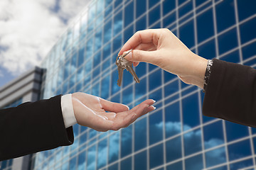
[[[124,55],[118,55],[116,64],[117,64],[117,69],[118,69],[118,80],[117,80],[117,85],[121,86],[122,84],[122,77],[124,73],[124,69],[127,69],[127,71],[132,74],[132,77],[134,77],[134,80],[139,83],[139,78],[137,77],[137,74],[134,72],[134,69],[132,69],[132,62],[129,62],[126,60],[124,57],[129,54],[132,50],[129,50],[127,53]]]

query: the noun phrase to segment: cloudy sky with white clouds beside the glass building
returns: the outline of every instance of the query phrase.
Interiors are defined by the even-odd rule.
[[[1,0],[0,88],[40,65],[90,0]]]

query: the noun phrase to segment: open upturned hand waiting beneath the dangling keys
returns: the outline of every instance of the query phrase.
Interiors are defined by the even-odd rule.
[[[103,132],[127,127],[140,116],[154,111],[151,105],[155,102],[148,99],[129,110],[128,106],[90,94],[75,93],[72,98],[78,124]]]

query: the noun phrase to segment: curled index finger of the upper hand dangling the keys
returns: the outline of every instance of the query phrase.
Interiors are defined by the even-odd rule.
[[[129,38],[129,40],[127,40],[127,42],[125,42],[118,55],[122,55],[122,53],[127,50],[134,49],[142,43],[153,42],[154,45],[157,45],[159,40],[159,32],[157,30],[159,29],[137,31],[131,38]]]

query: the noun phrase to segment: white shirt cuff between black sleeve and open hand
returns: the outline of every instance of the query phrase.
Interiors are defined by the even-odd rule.
[[[65,128],[78,123],[73,110],[72,94],[65,94],[64,96],[61,96],[61,110],[63,112]]]

